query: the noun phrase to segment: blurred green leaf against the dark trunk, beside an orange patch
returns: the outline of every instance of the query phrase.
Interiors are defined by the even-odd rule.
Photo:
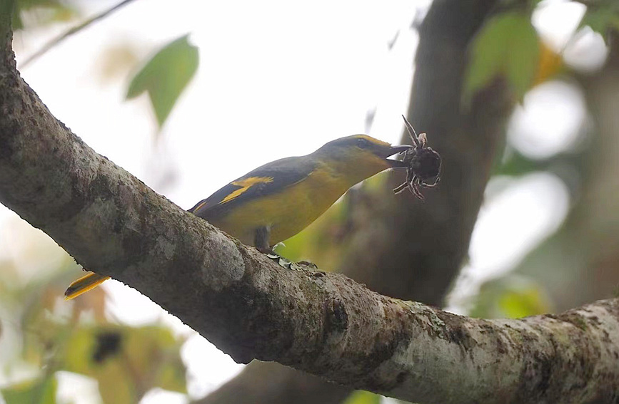
[[[462,100],[470,105],[473,95],[504,76],[518,100],[533,84],[540,58],[538,34],[530,16],[508,11],[493,16],[473,39],[465,73]]]

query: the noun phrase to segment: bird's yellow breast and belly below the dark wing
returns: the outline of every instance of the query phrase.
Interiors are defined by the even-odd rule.
[[[320,165],[303,180],[279,192],[258,197],[223,217],[209,220],[244,244],[253,244],[256,229],[266,226],[271,230],[269,244],[273,245],[301,232],[352,185]]]

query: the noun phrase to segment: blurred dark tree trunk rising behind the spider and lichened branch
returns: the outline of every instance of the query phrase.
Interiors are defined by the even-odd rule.
[[[374,291],[441,306],[468,251],[495,146],[513,107],[500,84],[481,94],[470,110],[460,105],[468,43],[495,4],[436,0],[421,25],[408,119],[441,152],[443,175],[441,185],[426,193],[426,203],[408,192],[393,197],[391,189],[403,180],[396,175],[382,195],[365,195],[353,205],[355,232],[338,269]],[[407,135],[403,141],[410,142]],[[269,374],[273,382],[268,386],[253,385],[245,400],[238,394],[240,385]],[[269,395],[277,391],[273,383],[280,383],[281,393]],[[303,385],[305,394],[287,385]],[[315,403],[315,395],[323,398],[321,403],[334,404],[346,391],[290,368],[256,364],[199,403],[226,403],[227,398],[236,403]]]

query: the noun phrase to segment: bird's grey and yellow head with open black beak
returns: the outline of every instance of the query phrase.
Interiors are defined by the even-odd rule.
[[[411,147],[392,146],[368,135],[351,135],[331,140],[314,153],[338,174],[360,182],[388,168],[406,167],[406,163],[387,157]]]

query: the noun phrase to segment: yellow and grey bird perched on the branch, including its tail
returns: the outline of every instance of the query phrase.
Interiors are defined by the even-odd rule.
[[[408,167],[388,157],[409,150],[369,135],[331,140],[308,155],[268,162],[228,183],[188,212],[258,251],[301,232],[348,189],[390,168]],[[109,276],[90,273],[69,285],[65,299],[74,299]]]

